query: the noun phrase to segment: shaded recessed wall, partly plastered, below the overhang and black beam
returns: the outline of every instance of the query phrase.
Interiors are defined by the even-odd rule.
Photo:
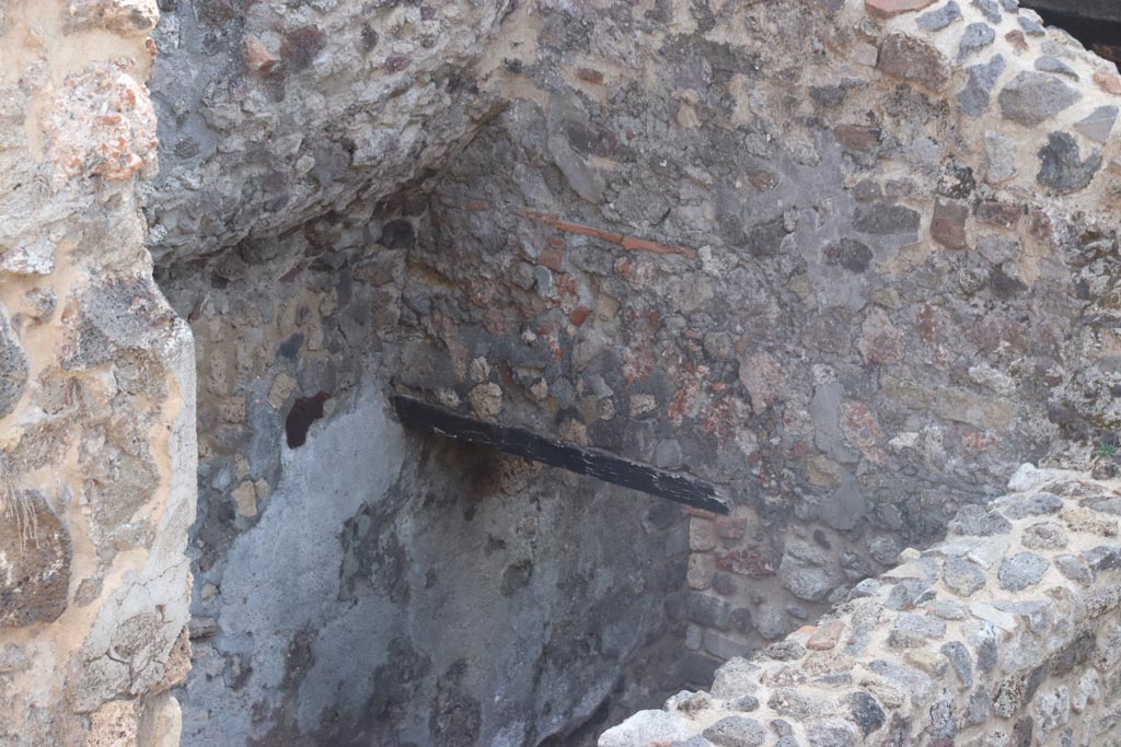
[[[393,220],[159,268],[198,366],[184,745],[575,745],[679,688],[676,507],[389,419]]]

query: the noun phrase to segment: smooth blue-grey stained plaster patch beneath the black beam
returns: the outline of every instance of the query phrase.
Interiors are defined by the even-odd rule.
[[[629,664],[684,580],[649,498],[406,437],[373,380],[282,461],[200,605],[185,746],[591,744],[677,684]]]

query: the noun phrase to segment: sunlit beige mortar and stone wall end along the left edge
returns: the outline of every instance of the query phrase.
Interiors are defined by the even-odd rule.
[[[176,744],[191,335],[151,281],[154,2],[0,8],[0,744]]]

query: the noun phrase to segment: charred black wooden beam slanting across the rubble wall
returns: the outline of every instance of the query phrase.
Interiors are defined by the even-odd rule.
[[[566,443],[521,428],[475,420],[411,396],[396,395],[392,403],[397,418],[407,428],[487,446],[713,513],[726,514],[732,510],[729,499],[715,485],[692,475],[666,471],[601,449]]]

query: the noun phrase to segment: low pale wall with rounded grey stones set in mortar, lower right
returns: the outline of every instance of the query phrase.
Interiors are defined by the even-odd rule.
[[[600,747],[1119,744],[1121,480],[1023,465],[1009,489]]]

